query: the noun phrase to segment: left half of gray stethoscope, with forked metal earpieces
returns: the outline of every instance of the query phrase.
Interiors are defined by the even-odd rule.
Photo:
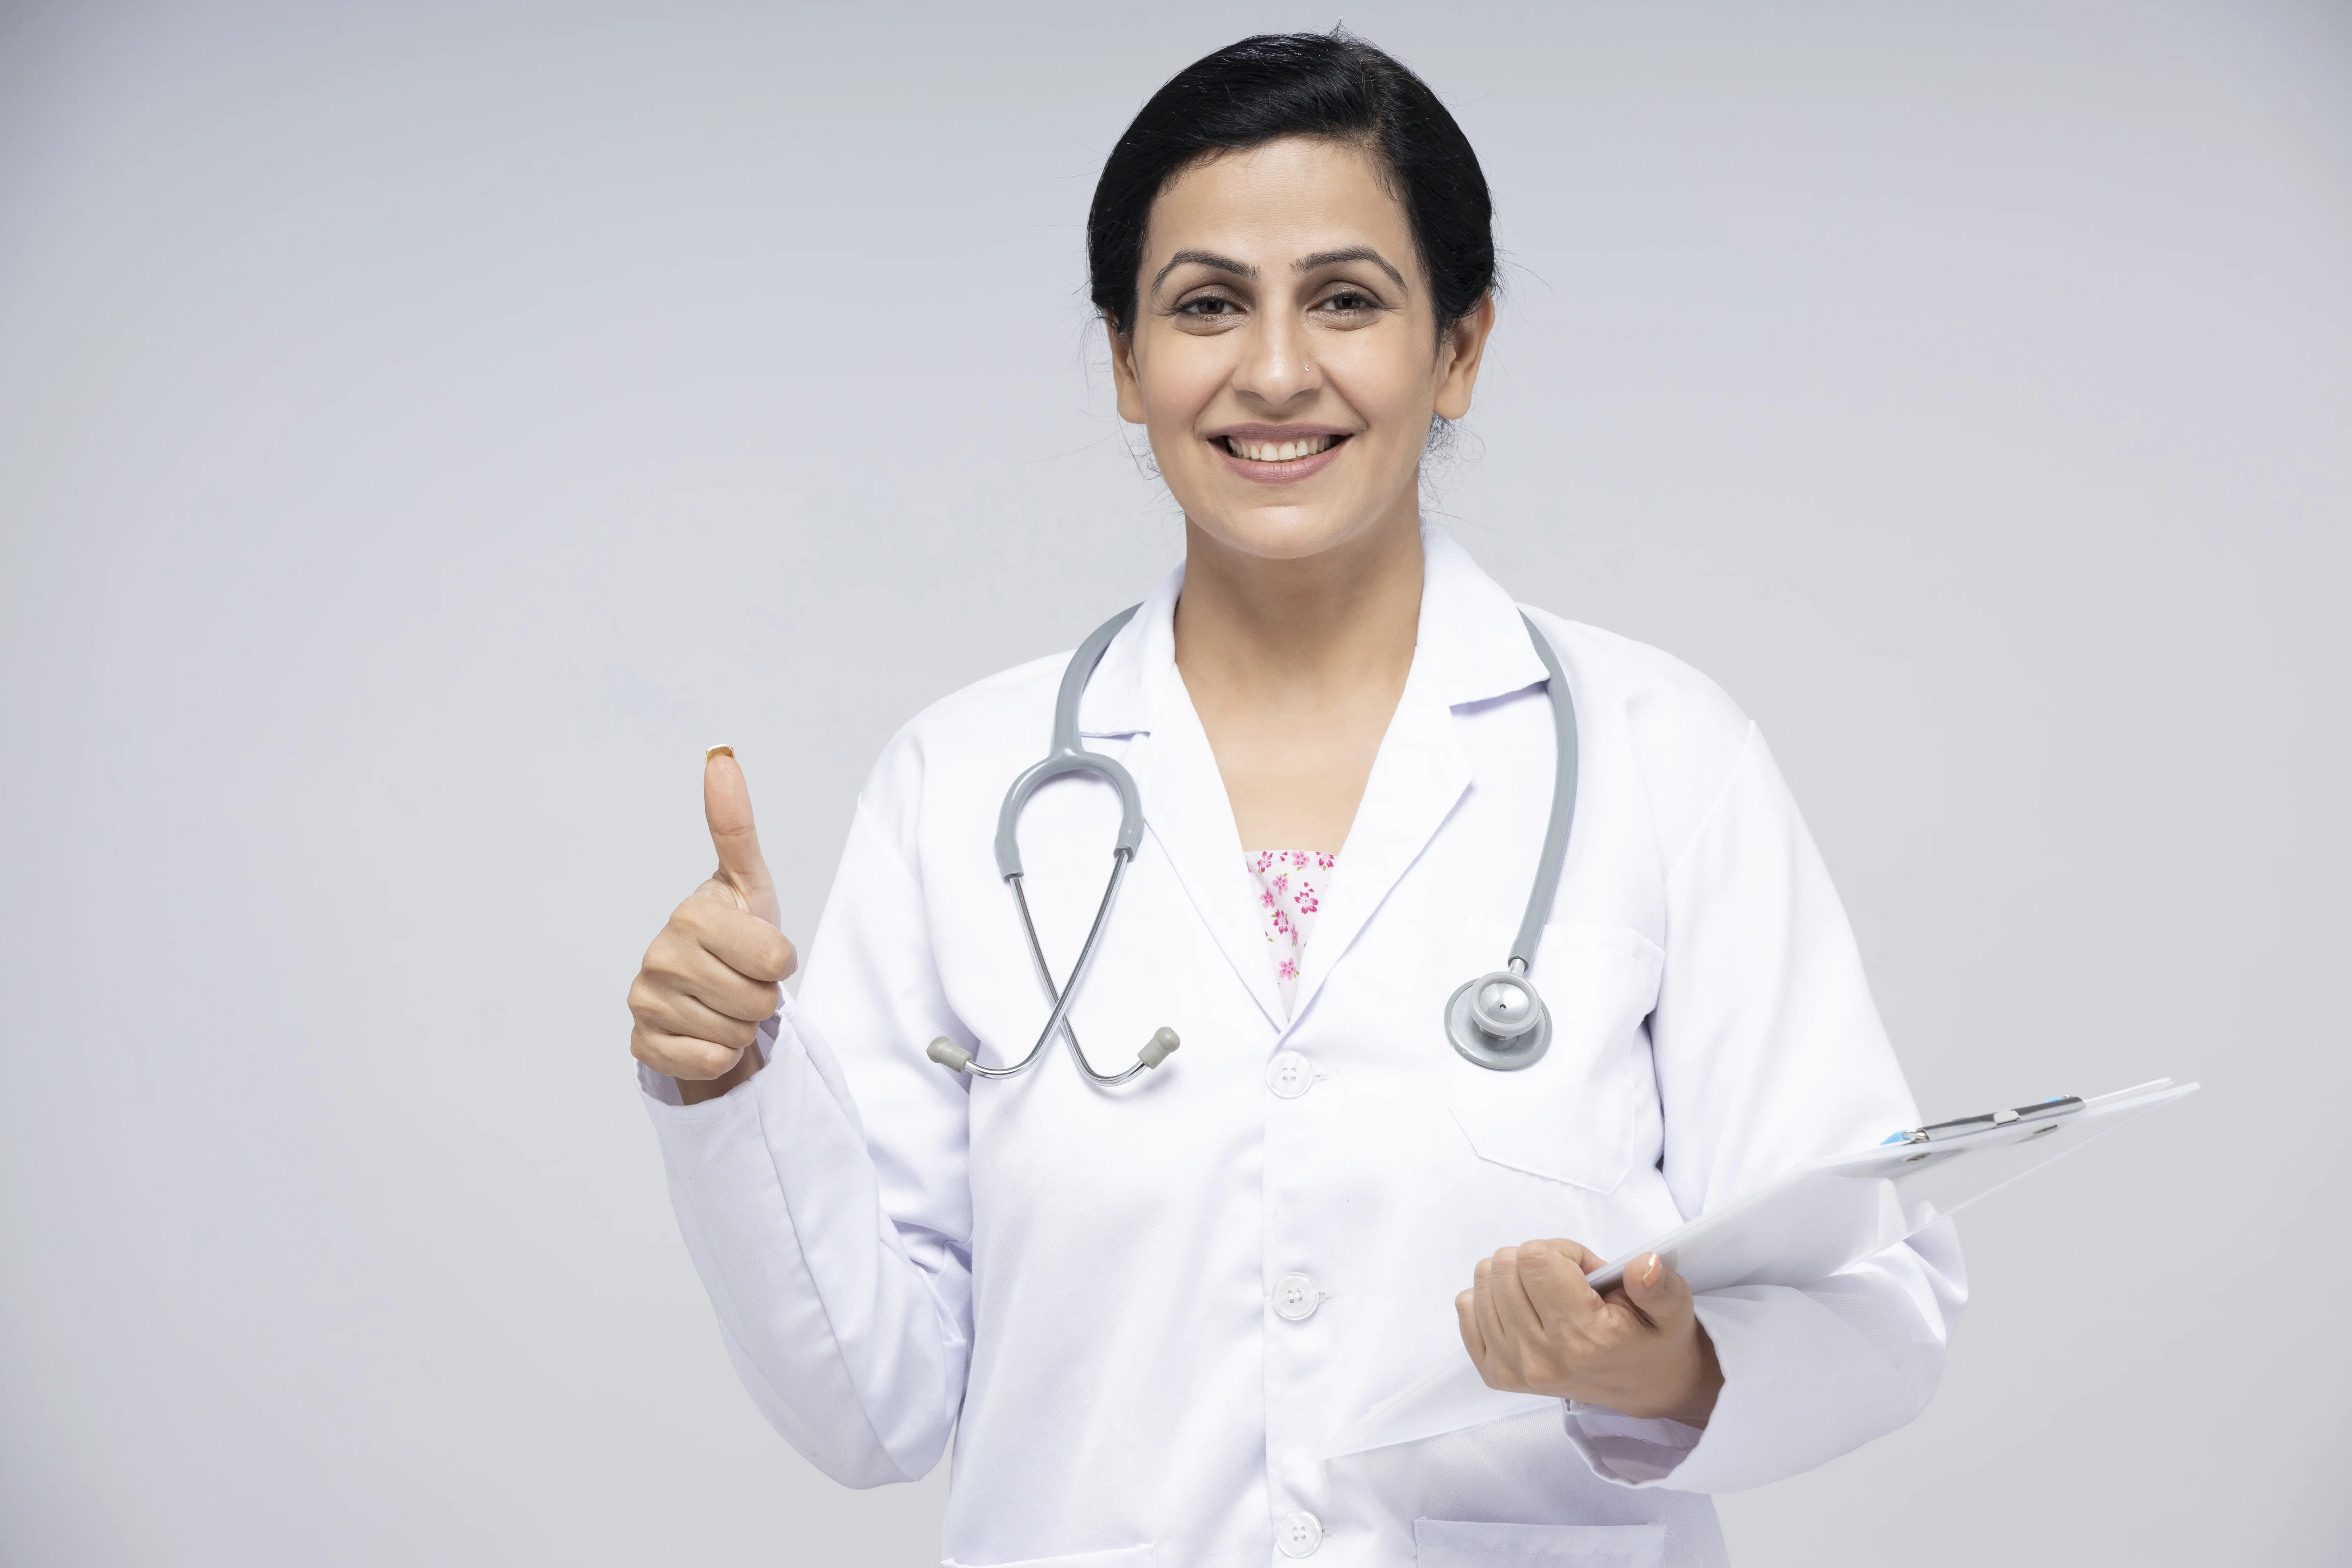
[[[1136,790],[1134,776],[1112,757],[1101,752],[1089,752],[1077,743],[1077,701],[1087,693],[1087,682],[1094,677],[1094,665],[1103,663],[1103,649],[1110,639],[1120,635],[1134,614],[1143,609],[1141,604],[1129,604],[1117,616],[1094,628],[1094,635],[1077,644],[1077,654],[1070,656],[1070,665],[1061,672],[1061,693],[1054,698],[1054,750],[1047,752],[1044,762],[1030,766],[1014,785],[1004,792],[1004,804],[997,809],[997,872],[1014,889],[1014,903],[1021,907],[1021,933],[1028,938],[1030,959],[1037,964],[1037,978],[1044,983],[1049,997],[1054,997],[1054,1013],[1044,1020],[1044,1030],[1037,1034],[1037,1044],[1011,1067],[981,1067],[971,1060],[971,1053],[957,1046],[948,1037],[931,1041],[927,1056],[941,1067],[953,1067],[955,1072],[969,1072],[976,1079],[1009,1079],[1028,1072],[1037,1065],[1044,1053],[1047,1041],[1058,1032],[1070,1044],[1070,1060],[1091,1081],[1124,1084],[1145,1067],[1157,1067],[1176,1048],[1176,1030],[1160,1030],[1143,1048],[1136,1053],[1136,1063],[1127,1072],[1096,1072],[1094,1063],[1087,1060],[1084,1046],[1077,1044],[1077,1030],[1070,1027],[1070,1004],[1077,999],[1077,983],[1087,973],[1087,964],[1094,959],[1094,945],[1103,936],[1103,922],[1110,919],[1110,905],[1120,896],[1120,882],[1127,879],[1127,865],[1136,858],[1136,849],[1143,844],[1143,795]],[[1049,778],[1061,778],[1063,773],[1094,773],[1120,792],[1120,837],[1110,849],[1110,882],[1103,886],[1103,903],[1094,910],[1094,924],[1087,929],[1087,943],[1077,950],[1077,964],[1070,966],[1070,983],[1054,985],[1054,971],[1044,961],[1044,945],[1037,943],[1037,922],[1030,919],[1028,893],[1021,891],[1021,811],[1028,806],[1028,797],[1037,785]]]

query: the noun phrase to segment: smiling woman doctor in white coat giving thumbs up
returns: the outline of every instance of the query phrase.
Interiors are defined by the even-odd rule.
[[[1040,658],[898,731],[797,999],[715,752],[720,870],[630,987],[727,1352],[849,1486],[957,1432],[948,1563],[1722,1563],[1708,1493],[1917,1415],[1964,1291],[1947,1229],[1811,1288],[1693,1300],[1656,1255],[1585,1284],[1917,1121],[1771,752],[1696,670],[1522,618],[1421,520],[1494,240],[1397,61],[1348,35],[1202,59],[1112,148],[1087,242],[1183,564],[1091,670]],[[1007,863],[1000,802],[1065,689],[1141,827],[1101,773],[1051,776]],[[1475,976],[1505,980],[1489,1060],[1454,1044]],[[1510,1032],[1531,1006],[1541,1053]],[[1548,1403],[1324,1458],[1461,1352]]]

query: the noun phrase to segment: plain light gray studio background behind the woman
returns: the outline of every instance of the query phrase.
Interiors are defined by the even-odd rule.
[[[0,14],[0,1559],[920,1563],[753,1415],[621,994],[743,755],[807,933],[927,701],[1181,548],[1082,310],[1268,7]],[[1978,1208],[1743,1563],[2321,1563],[2352,14],[1350,5],[1510,301],[1442,510],[1764,724]]]

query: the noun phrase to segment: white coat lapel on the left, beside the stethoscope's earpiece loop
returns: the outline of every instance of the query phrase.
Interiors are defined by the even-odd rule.
[[[1279,1030],[1282,992],[1275,990],[1275,959],[1265,947],[1258,905],[1251,903],[1242,830],[1232,820],[1232,799],[1216,769],[1216,752],[1209,750],[1209,731],[1200,726],[1181,677],[1160,691],[1136,788],[1143,790],[1143,823],[1176,870],[1192,910]]]

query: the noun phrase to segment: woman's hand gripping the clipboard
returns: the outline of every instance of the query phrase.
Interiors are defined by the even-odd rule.
[[[1454,1309],[1486,1387],[1705,1427],[1724,1371],[1691,1286],[1658,1253],[1644,1253],[1625,1265],[1623,1286],[1599,1295],[1585,1274],[1604,1262],[1576,1241],[1479,1258],[1477,1284]]]

